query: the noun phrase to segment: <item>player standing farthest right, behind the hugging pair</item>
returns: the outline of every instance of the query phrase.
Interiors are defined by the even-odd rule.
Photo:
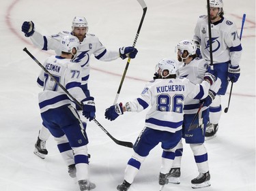
[[[210,126],[206,128],[205,139],[216,137],[221,118],[221,95],[225,95],[229,81],[237,82],[240,76],[241,41],[236,24],[223,15],[223,1],[210,0],[213,65],[222,84],[210,105]],[[210,63],[208,16],[200,16],[197,20],[194,39],[201,45],[202,58]]]

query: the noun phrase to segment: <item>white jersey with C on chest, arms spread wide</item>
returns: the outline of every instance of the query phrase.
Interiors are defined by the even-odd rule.
[[[61,54],[61,38],[66,35],[72,35],[71,32],[62,31],[56,35],[43,36],[37,31],[30,37],[33,44],[42,50],[54,50],[59,56]],[[111,61],[119,58],[119,51],[110,51],[102,45],[98,37],[93,34],[86,34],[85,39],[81,41],[81,48],[77,53],[75,62],[79,63],[83,67],[84,75],[82,84],[87,84],[89,79],[89,62],[91,54],[94,54],[95,58],[102,61]]]

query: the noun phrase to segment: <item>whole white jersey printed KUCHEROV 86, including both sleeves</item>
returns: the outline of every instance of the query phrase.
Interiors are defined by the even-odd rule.
[[[182,129],[184,103],[187,97],[203,99],[208,96],[210,84],[193,84],[187,78],[157,79],[148,82],[141,97],[129,101],[130,111],[147,112],[145,126],[175,133]]]

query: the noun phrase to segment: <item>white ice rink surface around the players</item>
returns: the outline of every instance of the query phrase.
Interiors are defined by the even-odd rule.
[[[174,48],[182,39],[191,39],[197,18],[206,14],[206,1],[145,0],[147,14],[118,101],[135,99],[145,82],[152,80],[154,67],[164,57],[175,58]],[[40,67],[25,53],[27,49],[41,63],[53,52],[31,45],[21,32],[25,20],[33,20],[44,35],[71,30],[74,16],[85,16],[89,33],[94,33],[109,50],[132,46],[142,9],[136,0],[32,1],[0,2],[0,190],[1,191],[78,191],[68,176],[53,137],[46,143],[48,156],[42,160],[33,154],[42,120],[38,108],[36,80]],[[227,114],[223,112],[217,137],[205,142],[208,150],[211,183],[200,191],[255,190],[255,1],[224,1],[225,16],[241,29],[240,80],[233,85]],[[110,122],[104,110],[113,104],[126,60],[104,63],[91,59],[89,88],[96,100],[96,118],[113,137],[134,142],[144,125],[146,111],[126,114]],[[222,97],[223,109],[229,98]],[[116,190],[124,179],[124,169],[132,149],[115,144],[94,122],[87,126],[90,177],[95,191]],[[141,165],[141,171],[129,191],[158,190],[162,150],[154,148]],[[163,190],[193,190],[190,180],[197,177],[197,166],[189,145],[184,143],[181,184],[168,184]]]

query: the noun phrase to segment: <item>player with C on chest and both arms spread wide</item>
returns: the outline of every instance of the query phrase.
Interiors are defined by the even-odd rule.
[[[61,37],[65,35],[74,35],[81,42],[81,49],[77,53],[75,62],[79,63],[83,68],[83,82],[82,88],[85,92],[86,96],[89,97],[88,90],[88,80],[89,80],[89,61],[91,60],[91,54],[94,54],[95,58],[102,61],[111,61],[115,60],[119,57],[125,59],[127,57],[135,58],[137,54],[137,49],[132,46],[119,48],[117,51],[106,50],[106,48],[101,44],[100,40],[96,35],[88,33],[88,23],[85,17],[76,16],[72,21],[72,31],[62,31],[56,35],[45,36],[40,34],[38,31],[35,31],[35,24],[30,22],[23,22],[22,31],[25,33],[25,37],[29,37],[34,46],[42,49],[42,50],[55,50],[57,55],[61,54],[61,46],[59,41],[61,41]],[[86,123],[84,123],[86,126]],[[48,130],[44,127],[40,129],[38,140],[35,143],[35,151],[34,153],[40,158],[45,158],[45,155],[48,154],[46,150],[46,140],[50,136]]]

